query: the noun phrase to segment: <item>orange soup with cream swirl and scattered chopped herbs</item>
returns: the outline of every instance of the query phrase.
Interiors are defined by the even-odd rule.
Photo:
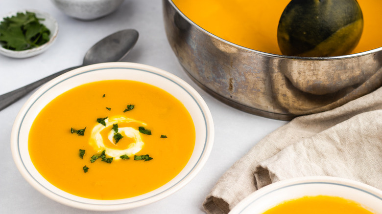
[[[166,91],[108,80],[53,99],[28,140],[33,165],[52,185],[81,197],[121,199],[155,190],[182,171],[195,127]]]

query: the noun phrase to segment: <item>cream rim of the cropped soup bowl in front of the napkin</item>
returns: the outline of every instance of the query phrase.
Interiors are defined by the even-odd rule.
[[[338,177],[308,176],[279,181],[250,194],[229,214],[263,214],[287,200],[303,196],[328,195],[350,199],[375,214],[382,214],[382,191]]]

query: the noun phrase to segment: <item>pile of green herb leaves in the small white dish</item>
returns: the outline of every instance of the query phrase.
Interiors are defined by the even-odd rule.
[[[49,41],[50,30],[33,12],[19,12],[0,22],[0,44],[9,50],[27,50]]]

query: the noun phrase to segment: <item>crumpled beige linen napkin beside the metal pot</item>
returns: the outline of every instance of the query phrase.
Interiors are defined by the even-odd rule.
[[[227,214],[268,184],[312,175],[382,190],[382,88],[270,133],[220,177],[203,207],[208,214]]]

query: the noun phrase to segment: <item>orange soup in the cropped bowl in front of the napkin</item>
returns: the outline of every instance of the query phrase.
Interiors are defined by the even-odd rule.
[[[263,214],[373,214],[355,201],[341,197],[305,196],[283,202]]]

